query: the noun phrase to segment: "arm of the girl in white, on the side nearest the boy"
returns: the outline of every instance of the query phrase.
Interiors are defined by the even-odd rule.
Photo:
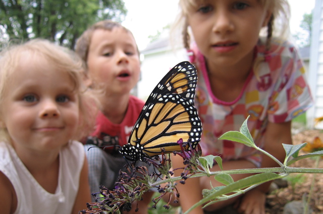
[[[88,181],[88,164],[85,157],[83,168],[80,174],[79,191],[76,196],[72,213],[77,214],[79,213],[80,210],[86,209],[86,203],[89,203],[89,202],[91,202],[91,193],[90,193],[90,186]]]

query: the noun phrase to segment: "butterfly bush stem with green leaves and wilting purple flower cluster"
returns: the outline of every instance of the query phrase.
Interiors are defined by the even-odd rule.
[[[182,168],[183,173],[179,177],[172,177],[169,174],[170,166],[169,164],[165,164],[165,162],[170,162],[169,158],[164,157],[160,161],[160,165],[158,165],[158,171],[159,172],[164,172],[164,176],[167,178],[165,179],[160,179],[160,180],[152,180],[148,181],[147,178],[146,182],[143,182],[142,180],[136,181],[136,179],[140,179],[140,177],[132,178],[130,181],[128,177],[123,178],[124,182],[119,182],[118,186],[119,189],[118,191],[110,191],[109,194],[105,194],[104,198],[104,204],[110,204],[110,206],[105,206],[104,210],[107,210],[111,208],[111,205],[116,205],[119,204],[126,204],[128,201],[133,201],[134,199],[139,199],[141,198],[141,194],[144,191],[147,191],[148,189],[152,187],[157,187],[158,193],[156,192],[154,195],[154,200],[152,204],[153,206],[156,207],[156,209],[149,209],[149,214],[154,214],[154,213],[173,213],[174,210],[172,207],[169,206],[171,202],[171,198],[168,204],[163,205],[162,203],[158,203],[158,201],[161,199],[161,197],[165,196],[167,193],[178,193],[176,189],[176,181],[180,181],[180,185],[185,184],[186,179],[194,178],[194,177],[202,177],[202,176],[207,176],[207,177],[214,177],[217,181],[223,184],[223,186],[217,186],[212,189],[203,189],[202,190],[202,195],[203,198],[197,202],[196,204],[192,204],[190,209],[188,209],[184,214],[189,213],[191,210],[196,208],[197,206],[204,205],[208,206],[211,203],[216,203],[219,201],[227,200],[233,197],[236,197],[237,195],[243,194],[250,189],[265,183],[267,181],[272,181],[275,179],[279,178],[285,178],[286,176],[292,174],[292,173],[298,173],[296,176],[290,176],[286,178],[291,182],[291,185],[295,187],[295,184],[297,182],[302,182],[302,174],[300,173],[323,173],[323,169],[318,169],[318,161],[317,164],[315,165],[316,168],[296,168],[296,167],[290,167],[290,164],[301,160],[303,158],[309,158],[309,157],[316,157],[316,159],[319,159],[319,156],[323,156],[323,150],[321,151],[316,151],[313,153],[309,153],[306,155],[301,155],[298,156],[299,151],[306,146],[306,143],[301,144],[301,145],[283,145],[285,152],[286,152],[286,158],[284,163],[281,163],[279,160],[277,160],[273,155],[268,154],[264,150],[258,148],[254,142],[253,139],[250,135],[250,132],[247,128],[247,120],[248,118],[244,121],[242,124],[240,131],[229,131],[223,134],[220,138],[221,139],[228,139],[228,140],[235,140],[237,142],[241,142],[242,144],[255,148],[256,150],[260,151],[261,153],[267,155],[268,157],[272,158],[274,161],[276,161],[280,167],[274,167],[274,168],[255,168],[255,169],[236,169],[236,170],[225,170],[222,169],[222,160],[218,156],[205,156],[205,157],[199,157],[200,152],[197,150],[192,150],[192,151],[186,151],[186,155],[184,156],[181,153],[177,153],[177,155],[181,155],[184,159],[184,163],[186,167]],[[214,161],[217,162],[219,167],[221,168],[221,171],[215,171],[211,172],[210,169],[212,165],[214,164]],[[159,170],[160,168],[165,167],[165,170]],[[134,168],[135,169],[135,168]],[[178,170],[178,169],[177,169]],[[148,171],[147,171],[148,172]],[[232,174],[250,174],[253,173],[254,175],[251,175],[249,177],[234,181],[231,177]],[[141,173],[142,174],[142,173]],[[143,173],[146,175],[147,173]],[[149,175],[148,175],[149,177]],[[159,176],[161,178],[163,176]],[[142,179],[142,178],[141,178]],[[136,182],[135,182],[136,181]],[[130,183],[133,183],[133,188],[128,188]],[[140,184],[141,183],[141,184]],[[167,183],[166,187],[161,187],[160,185],[163,183]],[[123,184],[123,187],[121,186]],[[138,185],[139,184],[139,185]],[[136,187],[137,185],[137,187]],[[189,187],[188,187],[189,188]],[[136,191],[132,191],[132,189]],[[103,191],[104,192],[104,191]],[[117,194],[118,192],[123,192],[122,197],[120,194]],[[140,192],[140,194],[138,194]],[[158,194],[161,193],[160,196]],[[104,195],[103,194],[103,195]],[[113,194],[114,197],[111,197]],[[129,195],[137,196],[138,198],[131,198]],[[174,195],[174,194],[173,194]],[[176,197],[177,194],[175,194]],[[96,203],[92,204],[96,205]],[[117,207],[119,208],[119,207]],[[166,209],[165,209],[166,208]],[[169,209],[170,208],[170,209]],[[94,210],[93,208],[91,209],[91,212],[89,213],[101,213],[101,209],[96,209]],[[140,211],[140,210],[139,210]]]

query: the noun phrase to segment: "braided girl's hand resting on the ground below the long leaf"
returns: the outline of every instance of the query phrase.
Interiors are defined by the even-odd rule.
[[[244,214],[265,214],[266,195],[258,189],[251,189],[240,199],[238,211]]]

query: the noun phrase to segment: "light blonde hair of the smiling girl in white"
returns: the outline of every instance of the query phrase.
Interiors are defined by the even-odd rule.
[[[19,72],[17,69],[19,61],[26,52],[44,57],[48,60],[48,63],[52,63],[52,66],[66,72],[71,77],[75,93],[79,98],[80,110],[79,128],[74,139],[80,140],[82,137],[87,136],[94,127],[96,107],[94,100],[92,100],[92,95],[83,84],[85,78],[84,62],[68,48],[55,45],[44,39],[34,39],[22,44],[11,44],[0,52],[0,120],[2,120],[2,115],[6,113],[2,112],[2,105],[7,94],[6,87],[9,84],[7,80],[14,72]],[[11,141],[5,127],[0,128],[0,139]]]

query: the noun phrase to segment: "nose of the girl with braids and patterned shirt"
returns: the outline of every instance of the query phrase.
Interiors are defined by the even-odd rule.
[[[234,30],[234,24],[227,11],[221,10],[217,12],[214,18],[213,32],[218,34],[227,34]]]

